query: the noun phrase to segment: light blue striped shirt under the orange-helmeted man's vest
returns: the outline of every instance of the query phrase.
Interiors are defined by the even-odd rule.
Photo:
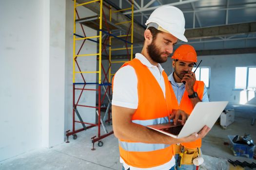
[[[184,91],[185,91],[185,85],[182,84],[182,85],[179,86],[174,80],[173,73],[168,76],[168,80],[170,81],[170,83],[173,87],[173,91],[176,95],[176,98],[177,98],[177,101],[178,101],[178,104],[179,104],[181,99],[182,99],[182,96],[184,94]],[[203,89],[202,102],[209,102],[208,95],[207,95],[207,88],[206,88],[205,85],[204,85],[204,89]]]

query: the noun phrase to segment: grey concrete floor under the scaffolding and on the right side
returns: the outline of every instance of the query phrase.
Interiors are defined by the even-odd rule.
[[[235,122],[222,129],[215,125],[203,139],[202,153],[204,163],[200,170],[244,170],[233,167],[227,159],[255,162],[254,159],[236,157],[229,146],[227,135],[248,133],[256,143],[256,125],[251,126],[251,118],[256,117],[256,106],[229,106],[235,108]],[[109,130],[111,126],[107,127]],[[102,132],[103,133],[103,132]],[[0,170],[121,170],[119,163],[118,140],[114,135],[102,139],[104,145],[91,151],[91,137],[97,134],[97,128],[80,132],[76,140],[70,137],[70,143],[62,143],[50,149],[30,151],[0,162]],[[247,170],[247,169],[246,169]]]

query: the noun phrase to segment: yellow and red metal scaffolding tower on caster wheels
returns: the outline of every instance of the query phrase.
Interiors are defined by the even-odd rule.
[[[80,1],[82,1],[82,0],[79,0],[79,2]],[[94,3],[94,2],[99,4],[99,9],[100,9],[99,10],[99,15],[85,17],[85,18],[79,18],[77,7],[78,6],[86,6],[86,5],[89,5],[90,3]],[[107,130],[105,129],[105,126],[104,126],[105,122],[110,123],[110,121],[111,121],[110,110],[109,110],[110,106],[111,106],[111,100],[110,100],[109,96],[110,96],[110,91],[111,91],[111,88],[110,88],[111,87],[111,79],[112,79],[112,76],[114,75],[114,73],[111,72],[111,66],[112,66],[112,64],[115,64],[115,63],[125,63],[126,61],[132,60],[132,58],[133,58],[133,22],[134,22],[133,11],[134,11],[134,1],[130,0],[130,2],[131,2],[131,8],[117,9],[117,10],[115,9],[115,11],[112,11],[112,6],[103,2],[103,0],[91,0],[91,1],[86,1],[86,2],[83,2],[83,3],[79,3],[79,4],[77,4],[77,0],[74,0],[74,23],[73,23],[74,24],[74,30],[73,30],[73,130],[72,130],[72,132],[70,132],[70,130],[67,131],[66,136],[68,137],[68,136],[72,135],[73,138],[76,139],[77,138],[76,134],[78,132],[81,132],[81,131],[86,130],[86,129],[91,128],[91,127],[98,126],[98,136],[92,137],[93,149],[94,149],[94,143],[95,142],[98,141],[98,146],[102,146],[103,143],[100,141],[100,139],[113,134],[113,131],[107,132]],[[103,5],[104,5],[104,7],[107,6],[108,9],[109,9],[109,20],[107,20],[107,18],[105,17],[104,10],[103,10]],[[123,21],[123,22],[117,22],[117,23],[112,22],[112,14],[114,14],[114,13],[122,14],[123,11],[127,11],[127,10],[132,11],[131,20]],[[103,27],[103,19],[105,19],[104,20],[105,24],[106,24],[105,27]],[[130,25],[130,28],[129,28],[127,34],[117,35],[117,36],[112,34],[110,29],[112,29],[112,30],[120,29],[120,28],[122,28],[120,26],[122,26],[123,24],[128,24],[128,23],[130,23],[131,25]],[[98,31],[98,35],[86,36],[85,33],[84,33],[84,30],[83,30],[83,27],[82,27],[84,36],[81,36],[81,35],[76,33],[76,24],[80,24],[81,27],[82,27],[82,25],[85,25],[85,26],[88,26],[90,28],[93,28],[93,29]],[[107,35],[107,37],[102,42],[103,35]],[[131,37],[131,42],[127,41],[128,36]],[[126,39],[122,39],[123,37],[125,37]],[[93,38],[96,38],[97,40],[95,41],[95,40],[93,40]],[[111,41],[112,41],[113,38],[116,38],[118,40],[121,40],[121,41],[125,42],[126,48],[112,48],[112,42]],[[109,44],[107,44],[107,42],[106,42],[106,40],[108,40],[108,39],[109,39]],[[80,50],[81,50],[81,48],[82,48],[82,46],[83,46],[83,44],[86,40],[98,43],[98,52],[97,53],[79,54],[79,52],[80,52]],[[76,41],[83,41],[78,53],[76,53],[77,52],[76,51]],[[131,44],[131,46],[128,47],[127,43]],[[102,51],[105,50],[105,52],[107,53],[106,46],[109,47],[109,57],[108,57],[109,58],[109,68],[105,72],[104,67],[102,66],[101,60],[102,60]],[[121,51],[121,50],[126,50],[126,51],[131,50],[131,57],[126,61],[112,61],[112,58],[111,58],[112,51]],[[78,57],[87,57],[87,56],[97,56],[98,57],[98,70],[96,70],[96,71],[90,71],[90,70],[89,71],[83,71],[83,70],[80,69],[77,58]],[[79,69],[79,70],[76,70],[76,66],[77,66],[77,69]],[[105,77],[103,80],[102,80],[102,70],[103,70],[104,77]],[[87,73],[97,73],[98,74],[98,82],[93,82],[93,83],[86,82],[83,74],[87,74]],[[83,79],[83,82],[76,82],[76,75],[77,74],[81,75],[81,77]],[[98,85],[98,89],[86,89],[85,85],[88,85],[88,84],[89,85]],[[76,85],[83,85],[83,87],[82,88],[77,88]],[[105,85],[108,86],[107,89],[105,88]],[[108,113],[108,119],[107,120],[105,120],[106,114],[104,116],[104,119],[101,119],[101,116],[100,116],[100,109],[101,109],[101,104],[102,104],[102,101],[103,101],[103,100],[101,101],[101,97],[100,97],[101,96],[101,87],[103,87],[104,90],[105,90],[103,100],[104,100],[105,96],[107,96],[108,101],[109,101],[108,107],[106,109],[106,113]],[[75,101],[75,90],[81,90],[81,93],[80,93],[79,98],[78,98],[77,101]],[[87,106],[87,105],[79,104],[79,99],[80,99],[83,91],[85,91],[85,90],[98,91],[98,106]],[[79,114],[78,109],[77,109],[78,106],[91,107],[91,108],[98,109],[96,111],[97,114],[98,114],[98,123],[84,122],[82,120],[80,114]],[[75,114],[79,118],[79,121],[75,119]],[[75,123],[81,123],[83,128],[76,130]],[[85,124],[88,125],[88,126],[85,126]],[[102,125],[106,134],[100,135],[100,125]]]

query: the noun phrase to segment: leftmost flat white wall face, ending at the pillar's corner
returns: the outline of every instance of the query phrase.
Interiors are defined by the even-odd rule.
[[[0,160],[41,146],[42,6],[0,1]]]

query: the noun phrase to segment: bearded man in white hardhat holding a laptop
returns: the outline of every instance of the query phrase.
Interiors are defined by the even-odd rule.
[[[168,77],[159,64],[167,61],[177,39],[187,41],[183,13],[164,5],[151,14],[146,25],[141,53],[112,80],[113,130],[123,170],[174,170],[175,144],[202,138],[210,128],[177,139],[145,127],[167,123],[169,118],[176,124],[179,117],[184,124],[187,118],[184,111],[172,110]]]

